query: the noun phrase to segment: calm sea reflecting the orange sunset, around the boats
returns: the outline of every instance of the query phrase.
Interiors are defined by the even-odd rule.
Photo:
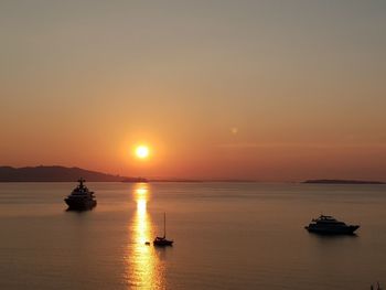
[[[386,288],[386,185],[0,183],[0,289]],[[157,248],[164,232],[172,247]],[[353,236],[304,229],[320,214]]]

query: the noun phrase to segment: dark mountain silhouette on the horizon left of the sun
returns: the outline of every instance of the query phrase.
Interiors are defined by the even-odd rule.
[[[81,168],[65,167],[0,167],[0,182],[67,182],[79,178],[86,181],[126,181],[136,182],[137,178],[126,178],[89,171]],[[143,181],[143,179],[140,179]]]

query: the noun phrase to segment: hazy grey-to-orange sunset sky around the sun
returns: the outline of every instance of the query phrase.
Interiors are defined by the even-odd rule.
[[[386,1],[2,0],[0,37],[2,165],[386,181]]]

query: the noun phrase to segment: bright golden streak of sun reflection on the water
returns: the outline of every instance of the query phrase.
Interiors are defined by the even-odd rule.
[[[147,183],[133,185],[132,198],[137,204],[130,224],[128,244],[127,279],[129,289],[165,289],[162,262],[152,246],[153,226],[148,213],[150,186]]]

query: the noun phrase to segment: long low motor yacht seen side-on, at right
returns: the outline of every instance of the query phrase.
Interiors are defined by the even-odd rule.
[[[353,234],[360,226],[346,225],[329,215],[321,215],[305,226],[305,229],[318,234]]]

